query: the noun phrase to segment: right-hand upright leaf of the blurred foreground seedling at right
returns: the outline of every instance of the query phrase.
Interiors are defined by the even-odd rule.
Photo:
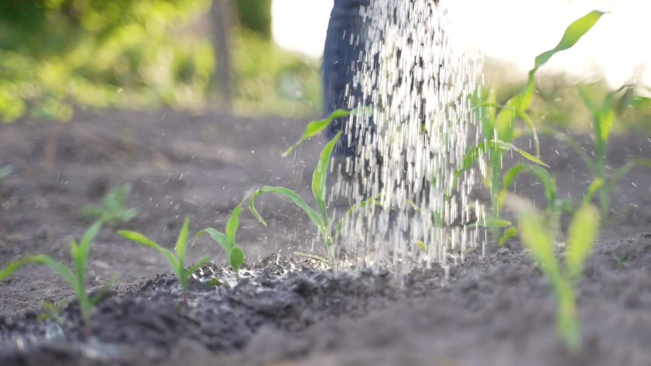
[[[577,280],[583,272],[583,264],[592,251],[599,227],[599,211],[592,205],[583,206],[572,219],[568,231],[566,266],[570,279]]]

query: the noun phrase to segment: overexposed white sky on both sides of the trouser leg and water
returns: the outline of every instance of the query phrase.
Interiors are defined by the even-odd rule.
[[[591,10],[609,11],[572,49],[544,66],[572,76],[600,68],[613,88],[651,66],[651,0],[448,0],[450,34],[460,46],[512,61],[523,70],[559,42],[566,27]],[[273,37],[285,49],[322,56],[333,0],[273,0]],[[543,71],[543,70],[541,70]],[[651,85],[651,67],[643,81]]]

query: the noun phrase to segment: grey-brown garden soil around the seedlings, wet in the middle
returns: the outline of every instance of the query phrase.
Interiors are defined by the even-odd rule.
[[[323,139],[281,152],[307,119],[246,118],[177,111],[78,115],[65,124],[55,165],[43,166],[50,128],[0,128],[0,267],[47,253],[71,265],[79,212],[130,183],[137,215],[102,227],[90,249],[89,290],[117,281],[92,311],[88,338],[75,296],[42,266],[0,282],[0,365],[649,365],[651,363],[651,169],[635,167],[611,194],[612,213],[577,286],[583,347],[566,350],[555,330],[549,282],[517,238],[405,277],[381,269],[329,268],[296,251],[322,244],[291,203],[260,196],[264,227],[244,209],[236,280],[207,238],[187,263],[211,261],[190,281],[188,305],[158,252],[118,236],[139,231],[173,248],[184,217],[191,237],[222,230],[243,195],[264,185],[310,197]],[[591,153],[590,137],[577,140]],[[528,137],[516,141],[531,146]],[[581,200],[592,182],[574,151],[541,136],[542,160],[559,197]],[[527,148],[527,150],[531,150]],[[651,158],[648,134],[615,135],[608,167]],[[505,165],[520,162],[505,158]],[[544,191],[522,175],[512,191],[536,203]],[[309,203],[311,201],[308,200]],[[567,220],[562,220],[566,229]],[[204,240],[205,239],[205,240]],[[44,302],[54,303],[44,307]]]

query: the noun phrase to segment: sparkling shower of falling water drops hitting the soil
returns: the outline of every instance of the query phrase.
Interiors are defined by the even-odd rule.
[[[454,224],[473,213],[477,174],[455,171],[479,139],[469,96],[480,59],[450,42],[445,1],[373,0],[361,11],[369,42],[349,135],[370,128],[374,138],[339,167],[330,199],[378,197],[379,204],[346,221],[342,249],[360,266],[445,266],[479,244],[476,230]]]

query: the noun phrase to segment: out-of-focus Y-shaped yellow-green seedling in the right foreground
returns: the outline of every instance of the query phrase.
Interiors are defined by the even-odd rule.
[[[576,310],[575,284],[583,273],[585,260],[592,251],[599,225],[599,211],[588,204],[574,214],[568,232],[564,260],[557,259],[553,237],[545,218],[531,202],[514,195],[506,204],[518,213],[519,236],[533,260],[549,280],[557,300],[556,328],[570,350],[581,345],[581,324]]]

